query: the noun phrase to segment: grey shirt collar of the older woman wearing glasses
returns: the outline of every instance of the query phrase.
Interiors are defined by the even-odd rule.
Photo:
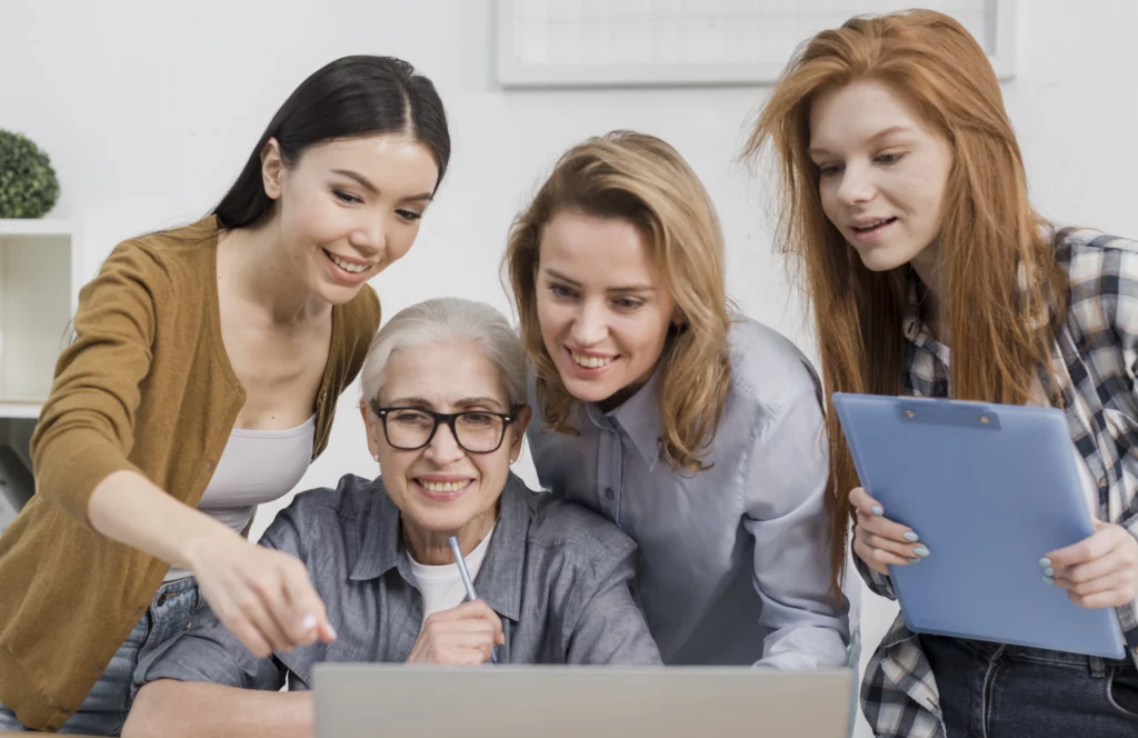
[[[360,518],[364,528],[363,543],[351,579],[355,582],[373,580],[394,568],[404,580],[414,582],[411,557],[399,534],[399,509],[387,494],[382,477],[376,477],[370,492],[372,505]],[[475,580],[479,599],[498,615],[514,622],[521,617],[522,573],[529,538],[529,494],[525,483],[511,473],[502,490],[498,520],[489,550]]]

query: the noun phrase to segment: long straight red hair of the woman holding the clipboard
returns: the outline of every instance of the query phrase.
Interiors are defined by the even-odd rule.
[[[940,273],[959,399],[1023,403],[1046,366],[1066,285],[1047,223],[1028,199],[1026,174],[999,82],[975,39],[930,10],[855,17],[814,36],[784,71],[748,142],[773,149],[780,172],[778,247],[815,318],[828,392],[896,395],[902,388],[901,321],[908,266],[873,272],[826,219],[807,153],[819,95],[874,80],[916,104],[954,151],[941,212]],[[1021,273],[1029,279],[1022,280]],[[1052,312],[1052,321],[1038,317]],[[1048,392],[1055,394],[1055,387]],[[831,458],[831,564],[844,571],[848,493],[857,474],[826,402]]]

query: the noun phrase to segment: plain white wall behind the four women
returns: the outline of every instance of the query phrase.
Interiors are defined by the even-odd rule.
[[[85,229],[90,276],[118,240],[207,211],[277,107],[318,66],[347,54],[399,56],[438,85],[454,157],[414,249],[373,280],[386,315],[443,294],[509,310],[497,266],[516,210],[566,147],[633,128],[670,141],[703,178],[727,233],[729,289],[744,311],[814,355],[772,253],[765,183],[736,164],[744,122],[765,90],[503,92],[493,84],[490,24],[489,0],[323,8],[0,0],[0,128],[51,155],[63,184],[55,214]],[[1038,206],[1064,222],[1138,237],[1138,2],[1023,0],[1019,25],[1019,73],[1006,100]],[[355,391],[343,399],[331,448],[300,489],[373,472],[355,399]],[[257,532],[270,517],[262,512]],[[867,650],[894,613],[866,598]]]

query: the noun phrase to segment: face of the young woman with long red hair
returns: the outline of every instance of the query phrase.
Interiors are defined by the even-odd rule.
[[[868,269],[934,262],[953,149],[908,99],[874,81],[819,96],[810,158],[826,216]]]

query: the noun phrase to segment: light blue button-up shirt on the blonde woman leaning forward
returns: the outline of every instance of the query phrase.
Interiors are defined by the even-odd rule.
[[[667,664],[846,666],[848,606],[830,583],[820,386],[785,337],[733,323],[731,386],[703,472],[660,459],[655,377],[579,436],[528,438],[538,478],[640,546],[636,588]],[[530,402],[541,407],[530,382]]]

